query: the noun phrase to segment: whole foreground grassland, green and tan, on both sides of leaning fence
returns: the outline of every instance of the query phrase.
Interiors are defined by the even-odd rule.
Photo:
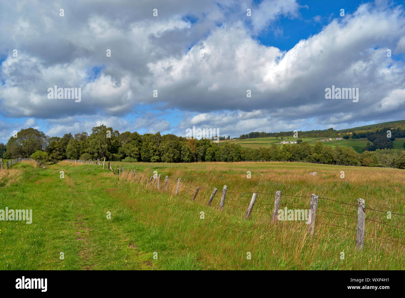
[[[297,208],[307,208],[309,198],[285,195],[315,193],[349,204],[361,197],[366,207],[403,214],[403,170],[279,162],[112,162],[112,166],[125,167],[124,176],[113,175],[107,167],[68,162],[47,169],[19,163],[10,170],[12,174],[1,174],[0,209],[32,209],[33,219],[31,224],[0,221],[0,269],[405,268],[403,257],[396,255],[404,252],[402,244],[366,234],[364,249],[358,251],[356,231],[344,228],[356,229],[357,219],[326,213],[355,216],[356,206],[320,199],[315,234],[310,236],[302,221],[271,224],[271,214],[265,212],[272,211],[274,195],[260,194],[280,190],[281,206]],[[126,179],[127,170],[133,169],[136,177]],[[173,178],[167,191],[145,184],[155,170],[162,174],[162,184],[165,175]],[[252,178],[247,178],[247,171]],[[318,176],[310,176],[313,171]],[[344,179],[339,178],[340,171],[345,172]],[[182,183],[175,196],[178,177]],[[201,188],[193,202],[195,187],[183,182],[208,189]],[[224,184],[227,200],[220,211]],[[207,206],[213,187],[219,191]],[[243,216],[253,191],[260,193],[246,221]],[[366,217],[388,224],[366,221],[366,232],[405,242],[403,230],[390,226],[405,228],[404,217],[387,219],[386,213],[372,210],[366,211]]]

